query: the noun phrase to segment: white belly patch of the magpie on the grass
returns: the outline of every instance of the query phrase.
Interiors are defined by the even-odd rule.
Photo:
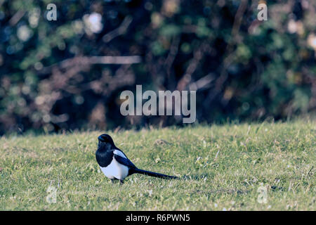
[[[101,171],[107,178],[109,179],[124,179],[128,174],[129,174],[129,168],[121,165],[117,160],[113,158],[112,162],[110,165],[107,167],[100,167]]]

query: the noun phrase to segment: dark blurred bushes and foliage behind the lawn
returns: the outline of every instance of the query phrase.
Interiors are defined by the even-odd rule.
[[[199,123],[313,113],[315,11],[307,0],[0,0],[0,134],[182,125],[122,116],[119,95],[136,84],[196,90]]]

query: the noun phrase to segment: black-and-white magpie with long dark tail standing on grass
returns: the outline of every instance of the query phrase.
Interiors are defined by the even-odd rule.
[[[132,174],[145,174],[147,176],[154,176],[162,179],[178,179],[177,176],[169,176],[138,169],[133,165],[133,162],[127,158],[123,151],[114,145],[111,136],[108,134],[101,134],[98,136],[96,160],[103,174],[111,179],[112,183],[114,180],[119,180],[120,183],[123,184],[123,180],[126,176]]]

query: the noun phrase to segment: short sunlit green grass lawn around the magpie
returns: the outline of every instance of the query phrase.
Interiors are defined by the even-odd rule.
[[[314,120],[110,132],[139,168],[183,177],[123,185],[98,168],[99,134],[2,137],[0,210],[316,210]]]

